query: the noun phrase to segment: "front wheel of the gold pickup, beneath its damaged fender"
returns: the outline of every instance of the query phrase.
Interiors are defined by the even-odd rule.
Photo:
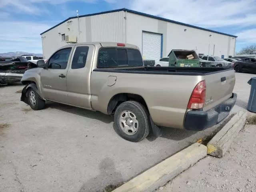
[[[42,100],[39,95],[37,94],[36,91],[33,89],[29,89],[27,91],[27,96],[28,96],[28,104],[33,110],[41,110],[44,108],[45,101]],[[34,97],[34,98],[33,98]]]

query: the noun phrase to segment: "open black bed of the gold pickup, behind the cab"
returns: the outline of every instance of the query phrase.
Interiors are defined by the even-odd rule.
[[[144,68],[104,68],[94,69],[100,72],[118,72],[118,73],[136,73],[136,74],[162,74],[162,75],[192,75],[204,76],[218,72],[233,70],[232,68],[216,68],[216,67],[144,67]]]

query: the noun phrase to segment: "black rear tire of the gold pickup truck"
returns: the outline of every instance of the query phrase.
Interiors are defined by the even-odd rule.
[[[135,115],[136,120],[138,121],[138,128],[135,133],[127,134],[123,127],[121,121],[121,115],[124,112],[131,112]],[[136,121],[135,120],[135,121]],[[135,123],[136,124],[136,123]],[[126,124],[127,126],[127,124]],[[126,101],[120,104],[115,111],[114,114],[114,130],[116,133],[124,138],[125,140],[131,142],[139,142],[146,138],[149,134],[149,130],[151,129],[149,112],[145,106],[136,101]]]

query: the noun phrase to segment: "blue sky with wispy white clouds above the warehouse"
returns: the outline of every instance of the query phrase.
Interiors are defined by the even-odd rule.
[[[128,8],[256,44],[256,0],[0,0],[0,52],[42,53],[40,33],[71,16]]]

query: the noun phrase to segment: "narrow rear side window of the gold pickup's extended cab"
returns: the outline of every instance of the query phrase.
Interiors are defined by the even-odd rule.
[[[86,64],[88,50],[89,50],[88,46],[76,47],[76,51],[74,53],[72,64],[71,64],[72,69],[84,68]]]

